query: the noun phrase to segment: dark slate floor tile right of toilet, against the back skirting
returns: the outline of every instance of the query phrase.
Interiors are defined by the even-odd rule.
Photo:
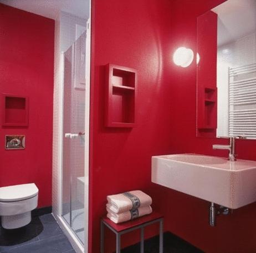
[[[49,238],[51,236],[63,234],[62,229],[60,229],[52,214],[45,214],[40,216],[39,218],[40,222],[42,222],[43,224],[43,230],[39,234],[40,240]]]

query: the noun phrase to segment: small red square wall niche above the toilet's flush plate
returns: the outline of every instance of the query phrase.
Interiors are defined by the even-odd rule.
[[[28,126],[28,97],[2,94],[3,126]]]

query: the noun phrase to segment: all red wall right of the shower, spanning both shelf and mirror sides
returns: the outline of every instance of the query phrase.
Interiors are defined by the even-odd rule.
[[[224,0],[95,0],[90,133],[89,252],[99,252],[99,222],[106,195],[142,189],[153,197],[153,208],[165,214],[165,230],[206,252],[255,252],[256,204],[218,217],[208,225],[208,202],[151,183],[151,156],[197,152],[226,156],[212,150],[227,140],[196,137],[196,64],[172,62],[173,52],[187,46],[196,52],[196,17]],[[107,10],[107,11],[106,11]],[[138,71],[137,127],[104,128],[104,65]],[[256,160],[252,140],[237,141],[240,159]],[[203,189],[202,189],[203,191]],[[151,236],[156,233],[152,229]],[[115,240],[107,237],[107,252]],[[122,246],[139,235],[122,237]]]

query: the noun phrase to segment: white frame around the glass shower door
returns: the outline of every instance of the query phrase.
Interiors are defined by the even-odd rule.
[[[85,55],[85,157],[84,157],[84,175],[88,175],[89,178],[89,126],[90,126],[90,71],[91,71],[91,1],[89,0],[90,8],[90,17],[87,22],[87,34],[86,34],[86,55]],[[88,38],[88,39],[87,39]],[[78,236],[75,235],[75,232],[71,229],[69,224],[64,220],[62,216],[62,187],[63,187],[63,102],[64,102],[64,52],[60,54],[60,76],[61,81],[59,85],[59,133],[58,133],[58,214],[55,217],[62,228],[64,234],[68,237],[71,245],[74,247],[76,252],[87,253],[88,252],[88,233],[89,233],[89,180],[84,183],[84,208],[86,203],[88,205],[88,210],[84,212],[85,215],[85,227],[84,227],[84,245],[78,239]]]

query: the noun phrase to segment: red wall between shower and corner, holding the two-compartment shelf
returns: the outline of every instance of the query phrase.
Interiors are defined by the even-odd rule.
[[[170,38],[168,0],[93,1],[93,54],[90,136],[90,252],[99,252],[100,217],[106,196],[132,189],[151,190],[151,156],[170,150],[170,81],[164,75]],[[105,65],[137,70],[137,126],[104,127]],[[168,71],[166,71],[168,72]],[[157,195],[156,195],[157,197]],[[115,239],[107,235],[106,252]],[[122,236],[122,246],[139,240]]]

